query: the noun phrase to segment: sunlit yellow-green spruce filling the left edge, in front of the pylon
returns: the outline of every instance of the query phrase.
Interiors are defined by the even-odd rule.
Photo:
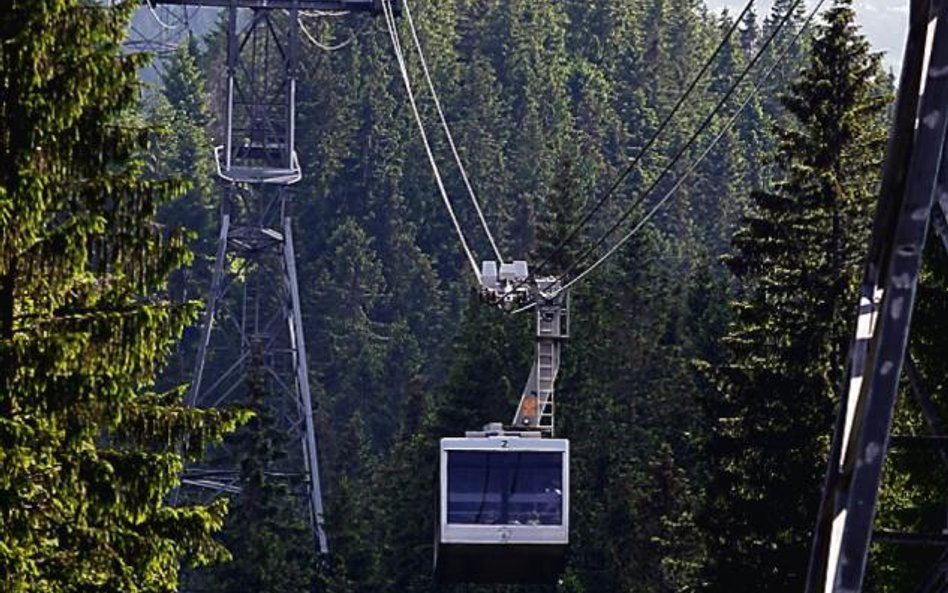
[[[189,254],[155,217],[186,186],[146,179],[133,8],[15,2],[0,23],[4,591],[174,591],[183,558],[226,555],[225,504],[167,502],[243,414],[152,390],[196,310],[165,293]]]

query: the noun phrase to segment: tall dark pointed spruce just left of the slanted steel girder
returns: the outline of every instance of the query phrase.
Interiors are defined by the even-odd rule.
[[[733,238],[738,296],[708,410],[714,591],[802,587],[885,140],[879,64],[837,0],[783,99],[782,179],[752,194]]]

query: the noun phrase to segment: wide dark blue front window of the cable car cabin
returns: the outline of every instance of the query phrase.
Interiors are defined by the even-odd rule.
[[[562,525],[563,454],[449,451],[448,523]]]

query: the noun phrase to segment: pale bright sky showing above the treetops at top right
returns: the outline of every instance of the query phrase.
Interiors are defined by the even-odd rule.
[[[727,8],[737,14],[745,0],[705,0],[714,10]],[[814,0],[806,0],[812,6]],[[772,0],[758,0],[757,14],[763,18],[770,11]],[[826,2],[828,6],[829,1]],[[902,47],[908,32],[908,0],[855,0],[856,18],[872,46],[885,52],[886,68],[898,72],[902,62]]]

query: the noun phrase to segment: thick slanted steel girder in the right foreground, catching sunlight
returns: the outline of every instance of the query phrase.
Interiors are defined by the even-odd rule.
[[[932,5],[929,0],[915,0],[910,20],[807,593],[862,590],[883,462],[892,442],[895,400],[907,360],[922,253],[933,219],[948,212],[948,167],[943,166],[948,132],[948,2]],[[943,223],[935,220],[936,225]],[[913,366],[905,366],[911,376]],[[924,412],[924,402],[920,403]],[[929,425],[940,431],[932,418]],[[876,535],[904,544],[943,540],[940,534]],[[932,574],[932,582],[940,582],[944,567]]]

